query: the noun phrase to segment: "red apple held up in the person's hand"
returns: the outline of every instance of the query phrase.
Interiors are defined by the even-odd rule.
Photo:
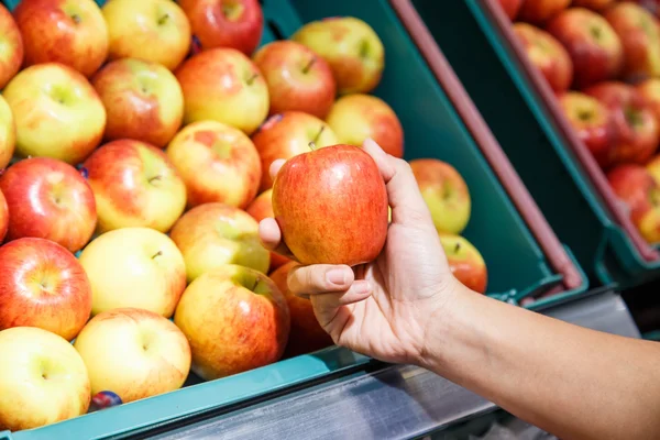
[[[322,215],[329,209],[332,215]],[[387,190],[374,160],[354,145],[330,145],[285,162],[273,185],[283,240],[302,264],[354,266],[381,254]]]

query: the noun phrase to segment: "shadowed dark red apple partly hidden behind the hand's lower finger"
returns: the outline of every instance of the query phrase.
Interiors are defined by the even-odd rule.
[[[292,319],[288,343],[284,351],[285,359],[311,353],[333,344],[332,338],[323,330],[314,315],[311,301],[294,295],[288,288],[288,273],[297,265],[296,262],[289,262],[270,275],[284,295]]]

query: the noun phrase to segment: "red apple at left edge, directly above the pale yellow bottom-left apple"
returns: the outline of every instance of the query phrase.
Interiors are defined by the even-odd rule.
[[[0,330],[38,327],[67,341],[91,312],[91,285],[76,257],[57,243],[25,238],[0,248]]]

